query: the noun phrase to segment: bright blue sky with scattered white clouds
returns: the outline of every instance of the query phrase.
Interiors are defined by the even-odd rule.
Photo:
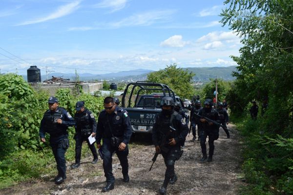
[[[222,0],[1,0],[0,73],[231,66]]]

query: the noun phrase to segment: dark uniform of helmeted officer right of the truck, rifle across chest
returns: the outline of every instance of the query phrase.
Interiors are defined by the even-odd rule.
[[[199,111],[199,115],[207,117],[216,122],[220,122],[219,113],[214,108],[203,108]],[[200,137],[200,145],[202,148],[202,153],[204,156],[207,156],[207,146],[206,139],[209,136],[209,158],[212,158],[214,152],[214,140],[219,138],[219,127],[216,124],[209,125],[209,122],[201,123],[202,132]]]

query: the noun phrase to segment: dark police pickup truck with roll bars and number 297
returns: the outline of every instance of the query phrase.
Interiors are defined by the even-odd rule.
[[[146,81],[127,84],[122,107],[128,112],[134,133],[151,133],[155,116],[162,110],[161,99],[165,96],[172,97],[184,106],[182,100],[165,84]]]

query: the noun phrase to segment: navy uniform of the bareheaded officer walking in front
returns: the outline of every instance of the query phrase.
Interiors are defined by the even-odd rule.
[[[111,133],[112,132],[112,133]],[[114,137],[119,137],[123,143],[126,144],[124,151],[119,151],[118,146],[114,147],[111,145],[112,134]],[[123,176],[128,176],[128,142],[132,134],[132,128],[130,124],[130,119],[127,112],[122,108],[116,106],[113,113],[110,115],[103,110],[100,113],[97,125],[97,143],[101,143],[103,138],[103,168],[106,177],[106,182],[114,183],[115,177],[112,173],[112,155],[115,151],[120,164],[122,166]]]

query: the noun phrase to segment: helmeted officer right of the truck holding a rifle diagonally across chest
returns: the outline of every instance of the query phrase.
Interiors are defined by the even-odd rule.
[[[200,161],[205,161],[207,156],[207,146],[206,146],[206,139],[209,136],[209,158],[208,162],[212,161],[212,156],[214,152],[214,140],[217,140],[219,138],[219,127],[212,123],[207,121],[203,117],[207,117],[211,120],[214,120],[216,122],[220,122],[219,120],[219,113],[216,109],[212,108],[213,102],[211,99],[206,99],[205,107],[199,111],[199,115],[202,116],[200,118],[201,125],[202,125],[202,133],[200,138],[200,146],[202,149],[203,157],[200,159]]]

